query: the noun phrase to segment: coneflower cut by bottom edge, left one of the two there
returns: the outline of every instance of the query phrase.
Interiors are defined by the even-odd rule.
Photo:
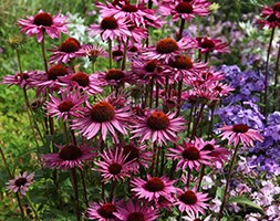
[[[118,219],[114,214],[118,211],[120,208],[123,208],[123,201],[112,202],[91,202],[90,207],[86,209],[86,215],[91,220],[97,221],[117,221]]]

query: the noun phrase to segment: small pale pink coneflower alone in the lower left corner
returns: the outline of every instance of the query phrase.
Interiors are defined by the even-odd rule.
[[[9,180],[7,185],[7,189],[10,192],[20,192],[20,194],[25,196],[29,186],[32,183],[34,178],[34,172],[28,175],[27,171],[21,172],[20,176],[15,177],[14,179]]]

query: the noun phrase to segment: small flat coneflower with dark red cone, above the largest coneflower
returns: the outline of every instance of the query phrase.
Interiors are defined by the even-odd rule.
[[[129,80],[129,76],[125,71],[120,69],[111,69],[106,72],[98,73],[98,81],[103,82],[106,85],[121,85]]]

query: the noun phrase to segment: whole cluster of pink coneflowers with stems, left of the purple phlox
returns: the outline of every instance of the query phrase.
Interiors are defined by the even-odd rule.
[[[186,22],[208,15],[209,6],[206,0],[97,2],[101,21],[90,25],[89,34],[107,42],[107,50],[68,36],[50,50],[49,60],[45,40],[68,33],[66,17],[40,10],[19,20],[22,33],[37,35],[44,70],[23,71],[19,60],[19,72],[2,82],[22,87],[41,143],[45,135],[63,130],[62,144],[53,139],[50,154],[38,155],[43,167],[71,171],[77,220],[84,212],[92,220],[153,221],[175,208],[185,220],[222,218],[238,147],[252,146],[262,137],[245,124],[219,128],[221,138],[212,133],[215,108],[234,88],[208,61],[212,53],[229,49],[217,39],[183,34]],[[172,18],[174,25],[178,22],[179,31],[152,43],[148,33],[163,28],[165,18]],[[86,56],[92,73],[76,65]],[[108,61],[105,71],[95,70],[100,56]],[[43,124],[34,118],[28,90],[44,99]],[[185,104],[189,109],[182,109]],[[235,150],[220,212],[214,214],[201,180],[206,171],[220,169],[229,160],[230,151],[220,146],[225,139]],[[98,201],[87,202],[85,168],[101,176],[94,181]],[[8,188],[24,194],[32,178],[33,173],[24,172]],[[79,203],[79,182],[86,211]],[[124,192],[117,192],[120,188]]]

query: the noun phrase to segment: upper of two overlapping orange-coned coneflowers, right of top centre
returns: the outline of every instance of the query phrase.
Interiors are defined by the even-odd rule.
[[[143,52],[146,60],[163,60],[166,63],[175,56],[180,55],[188,49],[193,49],[195,42],[191,39],[182,39],[178,42],[172,38],[165,38],[157,42],[156,46],[147,48]]]

